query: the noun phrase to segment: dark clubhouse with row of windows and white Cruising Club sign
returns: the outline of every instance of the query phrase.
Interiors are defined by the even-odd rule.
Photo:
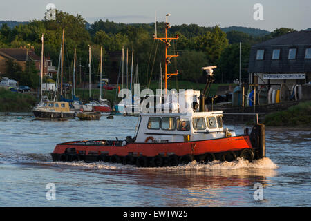
[[[252,46],[249,84],[305,84],[311,77],[311,31],[290,32]]]

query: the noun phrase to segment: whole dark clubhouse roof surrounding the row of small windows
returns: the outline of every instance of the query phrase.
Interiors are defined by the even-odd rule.
[[[288,59],[290,48],[296,48],[295,59]],[[290,32],[252,46],[249,53],[249,73],[310,73],[311,59],[305,58],[311,48],[311,31]],[[280,50],[279,59],[272,59],[274,49]],[[263,50],[263,59],[256,59]]]

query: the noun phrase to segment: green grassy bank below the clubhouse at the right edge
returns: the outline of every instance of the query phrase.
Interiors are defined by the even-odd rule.
[[[301,102],[285,111],[265,116],[266,126],[311,126],[311,102]]]

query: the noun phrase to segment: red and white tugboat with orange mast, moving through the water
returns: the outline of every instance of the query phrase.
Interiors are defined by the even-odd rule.
[[[154,37],[163,41],[166,49],[171,40],[178,39],[178,36],[167,37],[168,28],[167,22],[164,38],[157,38],[156,35]],[[164,80],[167,89],[167,79],[178,74],[167,73],[167,65],[171,57],[178,55],[167,55],[167,50],[165,51]],[[202,94],[197,90],[178,93],[177,110],[165,108],[176,104],[166,100],[163,104],[169,105],[162,105],[164,108],[157,108],[159,104],[156,104],[156,111],[141,111],[134,137],[128,136],[125,140],[83,140],[57,144],[51,153],[53,161],[102,161],[133,164],[138,167],[158,167],[188,164],[194,160],[200,163],[214,160],[234,161],[237,157],[251,162],[265,157],[264,124],[257,122],[250,134],[245,129],[243,134],[236,135],[234,131],[223,127],[223,111],[206,109],[205,94],[213,81],[214,68],[216,66],[202,68],[207,72],[207,84]],[[169,95],[165,93],[164,97]]]

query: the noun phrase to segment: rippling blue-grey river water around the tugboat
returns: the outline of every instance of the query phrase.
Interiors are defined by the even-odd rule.
[[[0,206],[311,206],[311,134],[303,129],[267,128],[267,158],[252,163],[155,169],[52,162],[57,143],[124,139],[134,135],[137,122],[123,116],[50,122],[1,115]],[[243,133],[243,126],[226,126]]]

